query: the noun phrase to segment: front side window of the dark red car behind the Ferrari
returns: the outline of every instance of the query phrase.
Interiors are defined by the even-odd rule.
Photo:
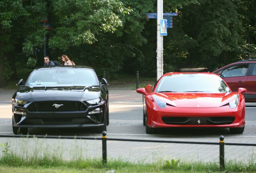
[[[221,76],[223,77],[246,76],[248,67],[249,67],[249,64],[238,64],[235,66],[231,66],[231,67],[225,68],[222,71]]]

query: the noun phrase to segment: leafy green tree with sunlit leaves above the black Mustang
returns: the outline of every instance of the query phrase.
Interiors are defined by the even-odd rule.
[[[50,36],[51,51],[94,44],[102,33],[122,26],[119,15],[129,12],[119,0],[4,0],[0,10],[0,61],[13,62],[6,56],[21,47],[31,66],[38,61],[34,50],[43,46],[44,36]],[[50,34],[42,25],[45,16],[51,19]],[[8,67],[0,64],[0,87],[6,86]]]

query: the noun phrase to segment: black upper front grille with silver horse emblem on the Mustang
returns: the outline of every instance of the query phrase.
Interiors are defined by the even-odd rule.
[[[59,111],[85,111],[87,107],[77,101],[47,101],[35,102],[29,105],[29,111],[59,112]]]

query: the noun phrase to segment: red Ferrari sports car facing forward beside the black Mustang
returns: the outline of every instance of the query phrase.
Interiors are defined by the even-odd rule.
[[[245,99],[239,88],[232,92],[225,81],[210,72],[169,72],[154,86],[139,88],[143,95],[146,133],[163,127],[221,127],[243,133]]]

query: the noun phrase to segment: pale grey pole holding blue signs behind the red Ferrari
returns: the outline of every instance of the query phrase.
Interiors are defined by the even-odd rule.
[[[160,35],[160,19],[163,19],[163,0],[157,0],[157,80],[163,75],[163,36]]]

